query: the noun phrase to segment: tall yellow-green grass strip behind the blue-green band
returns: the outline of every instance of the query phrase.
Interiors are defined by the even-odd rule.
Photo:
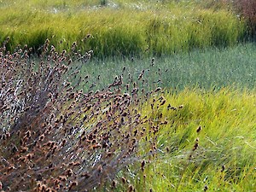
[[[59,50],[76,41],[95,55],[169,55],[211,45],[233,45],[245,34],[242,20],[225,9],[185,3],[128,3],[96,6],[97,1],[2,1],[0,41],[7,48],[38,49],[49,38]],[[137,7],[140,5],[140,7]],[[88,34],[91,38],[85,39]],[[82,41],[83,40],[83,41]],[[145,51],[147,50],[147,51]]]

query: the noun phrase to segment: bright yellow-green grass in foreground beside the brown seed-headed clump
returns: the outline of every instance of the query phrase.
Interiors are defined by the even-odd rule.
[[[255,90],[186,89],[162,96],[166,103],[160,106],[160,95],[154,96],[154,110],[151,102],[143,105],[143,115],[154,125],[169,123],[160,125],[155,135],[157,154],[134,177],[137,191],[253,191]],[[168,110],[168,104],[177,109]],[[193,151],[196,138],[199,146]]]

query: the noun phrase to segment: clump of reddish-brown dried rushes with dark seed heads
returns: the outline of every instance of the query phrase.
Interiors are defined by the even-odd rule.
[[[92,51],[83,56],[73,44],[72,54],[58,53],[46,40],[42,55],[35,60],[27,46],[14,53],[6,51],[8,40],[0,49],[1,188],[87,191],[116,187],[116,173],[134,161],[141,162],[137,150],[147,135],[143,127],[147,121],[135,108],[136,87],[131,96],[122,93],[125,85],[117,77],[105,89],[84,93],[76,87],[86,77],[72,83],[79,71],[73,61],[88,61]],[[150,143],[147,146],[149,150]]]

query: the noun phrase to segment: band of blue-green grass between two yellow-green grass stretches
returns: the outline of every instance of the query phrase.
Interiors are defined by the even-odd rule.
[[[85,91],[90,90],[91,84],[96,84],[94,90],[101,90],[113,83],[115,76],[121,74],[125,83],[129,83],[131,79],[137,80],[143,69],[145,84],[142,84],[143,79],[137,82],[145,90],[153,90],[156,86],[174,90],[183,90],[186,87],[218,90],[225,86],[252,89],[256,84],[255,48],[254,44],[240,44],[227,49],[198,49],[155,58],[153,67],[149,58],[134,59],[133,62],[131,58],[103,61],[95,59],[85,64],[76,63],[75,66],[81,67],[80,76],[90,76],[86,79],[89,80],[88,83],[85,84],[84,81],[81,84],[80,88]]]

